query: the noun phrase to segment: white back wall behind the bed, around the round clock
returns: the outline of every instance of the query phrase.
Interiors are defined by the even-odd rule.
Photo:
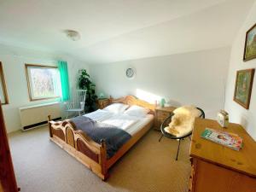
[[[91,65],[97,93],[106,96],[138,96],[144,100],[166,98],[175,106],[195,104],[215,119],[224,108],[224,82],[230,48],[203,50],[178,55]],[[125,78],[126,67],[137,71],[135,79]]]

